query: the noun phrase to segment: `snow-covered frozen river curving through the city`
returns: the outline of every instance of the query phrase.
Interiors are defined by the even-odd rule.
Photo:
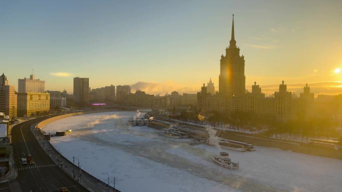
[[[235,152],[188,139],[170,139],[146,126],[127,125],[135,112],[106,112],[69,117],[47,125],[53,146],[69,160],[102,181],[115,177],[122,192],[340,192],[342,161],[256,147]],[[228,170],[211,160],[227,151],[239,170]],[[77,161],[75,161],[77,162]]]

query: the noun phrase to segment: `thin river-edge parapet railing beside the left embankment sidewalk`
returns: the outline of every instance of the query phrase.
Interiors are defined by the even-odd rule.
[[[99,180],[99,179],[97,179],[96,177],[92,176],[91,174],[89,174],[88,172],[84,171],[83,169],[80,169],[78,166],[76,166],[76,165],[73,164],[71,161],[69,161],[69,160],[66,159],[64,156],[62,156],[62,155],[61,155],[61,154],[60,154],[60,153],[51,145],[51,143],[50,143],[48,140],[46,140],[46,138],[44,137],[44,135],[43,135],[41,129],[39,129],[39,128],[36,127],[37,124],[38,124],[38,123],[33,124],[33,125],[31,126],[31,128],[37,129],[37,133],[40,135],[40,138],[42,138],[44,141],[46,141],[46,143],[47,143],[49,149],[52,149],[53,152],[54,152],[55,154],[58,154],[59,157],[61,157],[64,161],[66,161],[66,162],[68,162],[69,164],[71,164],[71,165],[73,166],[73,168],[76,168],[76,170],[78,170],[78,171],[80,171],[81,173],[87,175],[89,178],[93,179],[96,183],[99,183],[99,184],[103,185],[104,187],[109,188],[109,190],[112,191],[112,192],[120,192],[119,190],[116,190],[115,188],[111,187],[110,185],[108,186],[108,184],[102,182],[101,180]],[[76,172],[76,173],[77,173],[77,172]],[[80,175],[79,175],[79,178],[80,178]],[[79,180],[80,180],[80,179],[79,179]]]

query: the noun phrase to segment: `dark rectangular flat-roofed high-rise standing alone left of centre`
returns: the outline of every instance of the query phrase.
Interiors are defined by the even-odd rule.
[[[73,78],[73,101],[80,105],[89,102],[89,78]]]

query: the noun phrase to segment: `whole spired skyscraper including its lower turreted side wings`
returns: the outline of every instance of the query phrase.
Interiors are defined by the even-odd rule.
[[[210,83],[207,86],[203,84],[201,91],[197,93],[198,111],[216,111],[226,115],[246,112],[278,122],[296,118],[300,110],[303,114],[310,114],[313,93],[309,92],[307,85],[299,99],[292,97],[284,81],[279,84],[279,91],[274,92],[274,97],[265,97],[256,82],[251,86],[251,92],[246,91],[244,56],[240,56],[239,51],[240,49],[236,47],[233,19],[229,47],[225,49],[225,55],[221,55],[220,59],[218,94],[211,94]]]

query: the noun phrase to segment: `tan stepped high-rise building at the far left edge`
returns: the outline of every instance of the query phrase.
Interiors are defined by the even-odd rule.
[[[7,77],[0,76],[0,112],[9,118],[17,117],[17,95],[14,86],[8,85]]]

